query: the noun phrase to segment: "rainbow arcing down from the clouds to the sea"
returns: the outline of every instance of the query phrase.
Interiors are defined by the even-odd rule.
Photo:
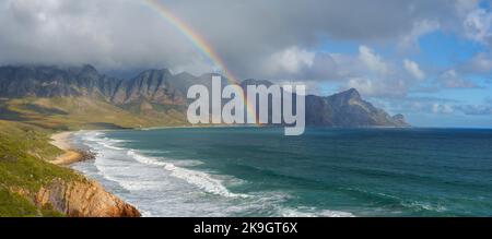
[[[239,81],[232,72],[226,68],[224,61],[220,58],[220,56],[215,52],[213,47],[198,34],[191,26],[189,26],[186,22],[178,19],[175,14],[173,14],[165,5],[157,0],[143,0],[143,3],[150,7],[150,9],[154,10],[159,13],[164,20],[166,20],[171,25],[173,25],[177,31],[179,31],[201,53],[203,53],[210,61],[218,67],[226,80],[231,84],[239,85]],[[253,116],[256,118],[256,106],[248,104],[247,97],[244,95],[243,91],[239,91],[241,97],[243,101],[246,103],[247,117]]]

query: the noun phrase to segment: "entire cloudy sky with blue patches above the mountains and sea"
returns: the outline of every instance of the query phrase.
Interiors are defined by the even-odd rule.
[[[354,87],[418,127],[492,128],[492,2],[156,0],[239,79]],[[144,0],[0,0],[0,64],[219,72]]]

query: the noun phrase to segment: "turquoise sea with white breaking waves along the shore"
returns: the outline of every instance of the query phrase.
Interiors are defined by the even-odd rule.
[[[74,168],[148,216],[492,216],[492,130],[81,132]]]

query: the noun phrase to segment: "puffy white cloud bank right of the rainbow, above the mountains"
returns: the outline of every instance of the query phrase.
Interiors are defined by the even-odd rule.
[[[417,77],[422,77],[424,73],[415,62],[406,62]],[[366,96],[405,96],[419,82],[403,67],[365,45],[354,55],[309,51],[294,46],[271,55],[261,65],[269,80],[331,81],[341,84],[340,91],[354,87]]]

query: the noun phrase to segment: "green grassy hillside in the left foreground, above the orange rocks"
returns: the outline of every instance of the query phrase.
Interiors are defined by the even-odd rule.
[[[54,180],[83,180],[71,169],[45,159],[61,151],[48,142],[52,131],[20,122],[0,120],[0,216],[62,216],[38,208],[34,195]]]

